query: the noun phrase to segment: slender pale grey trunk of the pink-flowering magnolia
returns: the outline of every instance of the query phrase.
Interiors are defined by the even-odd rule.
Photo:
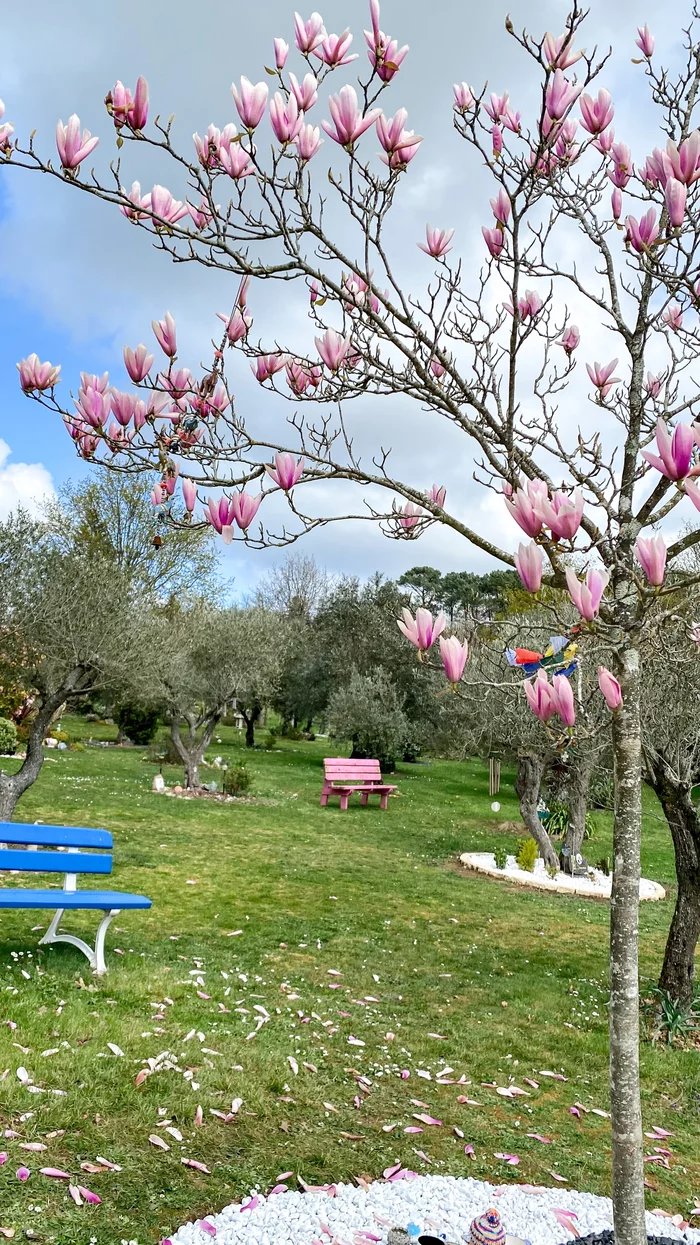
[[[615,820],[610,899],[610,1113],[617,1245],[646,1245],[639,1092],[639,876],[641,848],[640,664],[615,661],[623,703],[613,716]]]

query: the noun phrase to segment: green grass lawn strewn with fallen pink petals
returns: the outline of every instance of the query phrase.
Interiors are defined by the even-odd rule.
[[[64,725],[73,738],[95,731]],[[235,732],[220,736],[215,751],[239,758]],[[19,818],[106,827],[113,885],[153,908],[116,918],[101,980],[72,947],[37,950],[32,926],[46,928],[46,914],[0,911],[0,1127],[20,1134],[0,1140],[0,1226],[17,1239],[30,1229],[62,1245],[146,1245],[283,1172],[316,1184],[375,1177],[397,1159],[494,1182],[553,1184],[557,1173],[609,1193],[609,1120],[569,1111],[608,1107],[608,906],[456,865],[460,852],[504,842],[499,820],[517,813],[511,776],[498,814],[486,768],[447,762],[401,766],[386,813],[359,801],[340,813],[319,807],[328,749],[255,749],[247,759],[259,802],[233,804],[153,796],[144,749],[49,753]],[[604,817],[587,850],[609,852]],[[643,864],[673,884],[651,801]],[[671,903],[641,908],[646,977],[658,974]],[[66,928],[95,924],[76,914]],[[137,1086],[149,1059],[156,1071]],[[42,1093],[21,1084],[20,1066]],[[471,1084],[436,1084],[445,1066]],[[686,1211],[700,1194],[698,1052],[644,1046],[643,1093],[645,1128],[674,1133],[670,1169],[648,1164],[648,1205]],[[212,1114],[237,1098],[229,1123]],[[21,1149],[27,1142],[46,1150]],[[518,1154],[519,1167],[496,1152]],[[121,1170],[81,1172],[97,1155]],[[26,1184],[15,1177],[22,1163]],[[45,1165],[102,1204],[73,1205],[67,1182],[39,1174]]]

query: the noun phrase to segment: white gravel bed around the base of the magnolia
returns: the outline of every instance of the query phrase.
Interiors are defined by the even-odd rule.
[[[462,1243],[472,1220],[496,1206],[509,1235],[531,1245],[560,1245],[573,1234],[558,1221],[554,1210],[573,1211],[582,1236],[612,1226],[612,1203],[574,1189],[546,1189],[533,1185],[492,1185],[450,1175],[421,1175],[409,1180],[376,1180],[369,1188],[338,1184],[328,1193],[279,1193],[258,1195],[254,1209],[233,1203],[219,1215],[209,1215],[202,1228],[184,1224],[163,1245],[372,1245],[385,1243],[390,1226],[406,1228],[412,1220],[423,1231],[445,1233],[448,1241]],[[212,1233],[212,1228],[215,1233]],[[646,1214],[648,1231],[699,1245],[700,1231],[685,1234],[670,1219]]]

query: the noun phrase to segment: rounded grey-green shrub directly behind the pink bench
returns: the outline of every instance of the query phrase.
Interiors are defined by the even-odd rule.
[[[328,720],[336,740],[352,743],[354,757],[376,758],[386,771],[404,756],[412,733],[396,688],[381,669],[370,675],[354,670],[346,686],[331,696]]]

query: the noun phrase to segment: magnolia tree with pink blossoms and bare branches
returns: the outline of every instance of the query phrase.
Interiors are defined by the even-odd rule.
[[[478,275],[452,261],[457,242],[472,254],[473,240],[428,225],[420,242],[426,280],[415,289],[396,275],[391,225],[420,166],[421,138],[406,128],[406,111],[389,102],[401,90],[407,49],[381,30],[377,0],[365,31],[369,65],[362,71],[360,63],[356,85],[333,85],[355,72],[348,68],[356,60],[350,31],[329,34],[318,14],[296,16],[294,68],[288,44],[277,39],[270,82],[243,77],[232,87],[239,120],[210,125],[182,149],[171,121],[149,122],[144,80],[133,93],[117,82],[106,100],[117,147],[138,144],[142,156],[149,148],[158,167],[169,161],[172,189],[156,184],[142,192],[137,182],[127,188],[123,153],[106,179],[88,173],[98,138],[77,116],[59,123],[57,162],[34,138],[15,141],[10,123],[0,144],[10,166],[97,195],[174,260],[235,279],[230,305],[212,309],[212,324],[219,311],[222,327],[204,370],[178,357],[169,314],[153,321],[158,362],[144,344],[125,350],[133,387],[86,372],[75,402],[62,402],[59,367],[36,355],[21,361],[22,388],[62,415],[81,456],[132,472],[159,471],[153,500],[162,513],[181,493],[193,523],[255,547],[339,518],[314,512],[316,483],[324,498],[330,479],[372,486],[371,497],[385,491],[391,498],[370,512],[387,534],[414,539],[428,524],[450,527],[514,565],[532,593],[541,583],[568,585],[583,630],[604,632],[613,651],[602,687],[617,779],[613,1194],[618,1240],[640,1245],[640,641],[650,603],[663,601],[668,590],[666,564],[699,539],[695,533],[666,547],[651,533],[676,508],[700,508],[693,479],[700,45],[691,29],[683,63],[671,72],[656,67],[654,39],[648,27],[639,30],[640,85],[658,121],[646,149],[633,159],[624,134],[613,129],[608,54],[579,50],[583,20],[574,0],[557,36],[518,35],[507,22],[539,82],[527,117],[508,92],[455,87],[455,143],[462,141],[465,156],[493,177],[477,239],[485,261]],[[331,93],[321,102],[329,80]],[[446,100],[446,121],[448,107]],[[274,345],[254,340],[255,288],[263,280],[305,285],[306,349],[281,340],[283,324]],[[577,306],[588,308],[580,330],[568,311],[568,291]],[[605,326],[609,355],[617,357],[590,357],[585,325],[593,321]],[[270,441],[262,423],[234,407],[228,359],[235,351],[249,357],[262,386],[294,403],[284,439],[277,433]],[[597,406],[585,427],[577,423],[579,397],[570,385],[582,352]],[[450,507],[443,487],[397,478],[379,441],[369,461],[359,457],[351,400],[367,393],[414,400],[463,433],[465,464],[475,461],[483,486],[503,493],[527,538],[514,559]],[[289,503],[281,533],[262,524],[270,491]],[[577,573],[582,564],[584,581]],[[686,584],[696,581],[686,575]],[[423,646],[419,635],[411,639]],[[466,651],[453,639],[441,640],[447,677],[458,682]],[[539,717],[558,715],[564,735],[574,730],[575,697],[565,676],[553,684],[538,677],[526,691]]]

